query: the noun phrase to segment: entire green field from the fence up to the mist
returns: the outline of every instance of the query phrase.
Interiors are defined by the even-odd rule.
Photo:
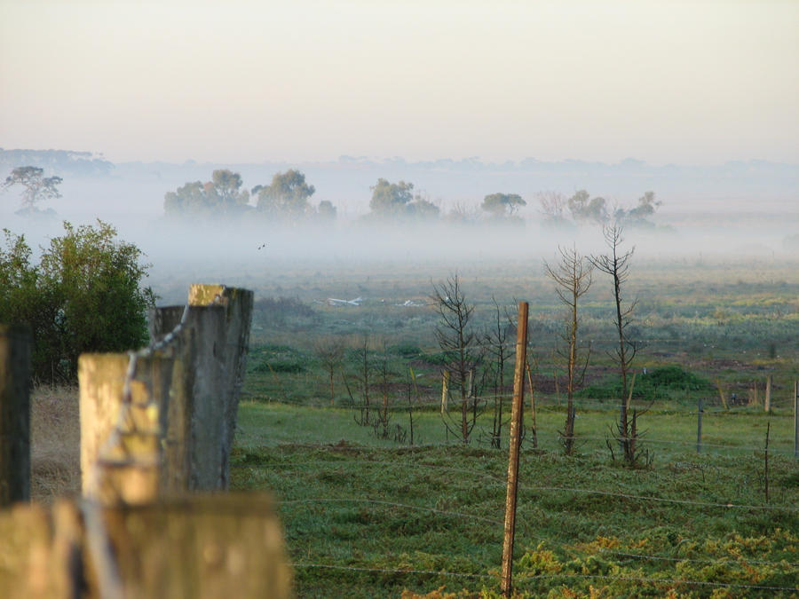
[[[564,374],[553,352],[561,314],[551,284],[519,264],[459,272],[477,327],[490,323],[494,298],[510,314],[515,300],[531,302],[537,447],[528,403],[514,570],[519,596],[799,594],[795,266],[637,264],[629,293],[639,297],[641,342],[633,406],[642,414],[647,452],[637,468],[613,461],[608,445],[618,400],[605,281],[597,280],[582,312],[593,352],[577,398],[577,453],[566,456],[558,435]],[[259,290],[287,301],[284,310],[256,311],[233,485],[277,495],[299,596],[498,593],[507,439],[500,450],[489,442],[497,390],[484,385],[476,392],[485,403],[470,444],[447,434],[428,296],[431,282],[451,271],[439,265],[424,272],[426,279],[408,267],[372,265],[319,279],[297,269]],[[329,306],[328,296],[364,301]],[[407,300],[418,305],[403,305]],[[333,398],[319,351],[331,339],[344,346]],[[373,414],[385,401],[388,427],[356,422],[363,415],[363,347]],[[669,382],[653,377],[663,373]],[[767,376],[770,414],[763,411]],[[499,392],[509,391],[510,373]]]

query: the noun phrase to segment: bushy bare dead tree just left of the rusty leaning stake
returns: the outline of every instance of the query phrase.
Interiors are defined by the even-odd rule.
[[[470,384],[474,370],[480,362],[478,338],[471,327],[474,304],[466,301],[457,274],[438,285],[433,284],[431,301],[440,317],[435,335],[447,362],[444,370],[451,373],[449,390],[458,394],[461,407],[460,422],[450,416],[448,411],[442,416],[447,430],[466,444],[470,441],[471,431],[477,424],[480,412],[478,400],[471,393]]]

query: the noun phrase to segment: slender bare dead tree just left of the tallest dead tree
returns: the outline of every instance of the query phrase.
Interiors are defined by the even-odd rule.
[[[588,366],[590,347],[585,359],[581,359],[581,347],[578,332],[580,318],[577,308],[581,296],[591,287],[593,266],[589,259],[581,256],[575,248],[558,248],[560,259],[554,267],[544,263],[547,275],[555,281],[556,291],[561,303],[566,306],[566,330],[563,340],[566,350],[558,350],[558,355],[566,361],[566,425],[560,433],[566,455],[574,451],[574,391],[585,378]]]

